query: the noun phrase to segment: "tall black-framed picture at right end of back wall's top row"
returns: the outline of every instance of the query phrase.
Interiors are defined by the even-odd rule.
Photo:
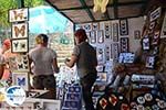
[[[128,35],[128,22],[127,19],[120,20],[120,34]]]

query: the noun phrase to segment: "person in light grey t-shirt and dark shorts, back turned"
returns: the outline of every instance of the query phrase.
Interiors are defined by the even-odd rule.
[[[54,73],[59,73],[56,53],[48,47],[49,37],[40,34],[35,37],[37,47],[29,52],[30,67],[33,73],[33,87],[35,89],[48,89],[46,98],[55,99],[55,77]]]

